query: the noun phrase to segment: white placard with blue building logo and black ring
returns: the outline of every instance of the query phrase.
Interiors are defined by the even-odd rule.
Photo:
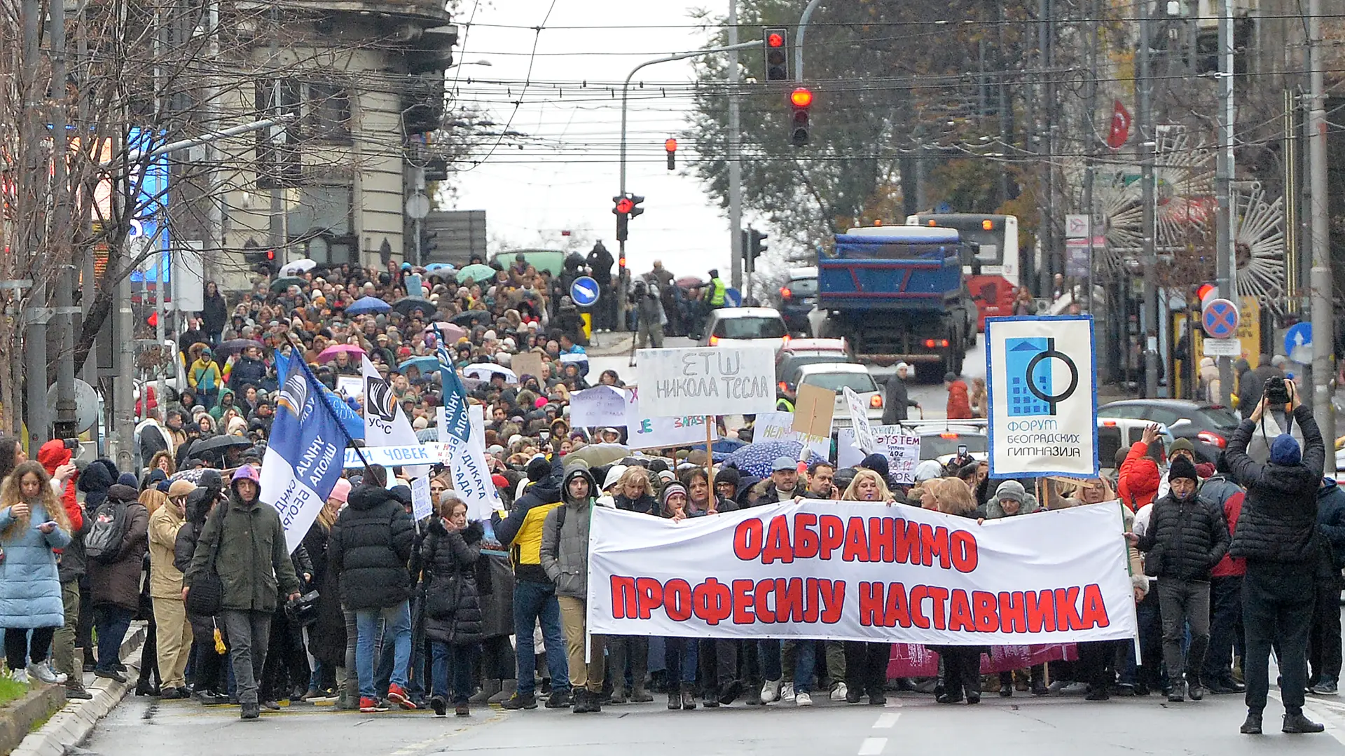
[[[1092,317],[987,317],[990,476],[1098,475]]]

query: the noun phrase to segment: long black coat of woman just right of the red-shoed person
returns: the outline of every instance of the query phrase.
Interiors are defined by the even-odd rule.
[[[473,522],[461,533],[432,518],[421,546],[425,565],[425,636],[441,643],[482,639],[482,605],[476,591],[476,562],[486,529]]]

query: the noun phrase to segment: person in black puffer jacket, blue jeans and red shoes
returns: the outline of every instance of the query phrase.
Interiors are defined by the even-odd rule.
[[[406,695],[412,656],[412,576],[406,565],[416,546],[416,523],[393,492],[379,484],[385,475],[382,468],[374,468],[370,482],[350,492],[327,543],[327,568],[340,573],[342,605],[355,612],[360,712],[385,710],[374,685],[379,620],[383,640],[391,638],[394,650],[387,700],[402,709],[416,708]]]

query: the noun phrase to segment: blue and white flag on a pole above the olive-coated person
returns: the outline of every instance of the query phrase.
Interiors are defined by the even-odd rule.
[[[261,500],[276,507],[293,552],[327,503],[343,472],[346,433],[304,363],[281,375],[276,420],[261,460]]]

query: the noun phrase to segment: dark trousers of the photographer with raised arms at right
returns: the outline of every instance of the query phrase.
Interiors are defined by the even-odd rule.
[[[1310,570],[1310,568],[1307,568]],[[1295,572],[1298,570],[1298,572]],[[1315,581],[1299,565],[1247,564],[1243,576],[1243,628],[1247,655],[1247,710],[1262,713],[1270,693],[1270,647],[1279,648],[1279,691],[1284,713],[1303,712],[1307,687],[1307,634],[1313,624]]]

